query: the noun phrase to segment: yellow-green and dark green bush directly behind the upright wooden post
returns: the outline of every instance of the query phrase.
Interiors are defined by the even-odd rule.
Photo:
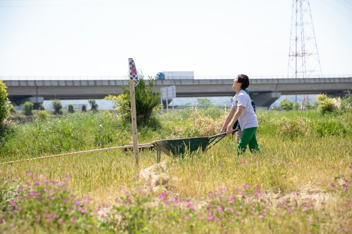
[[[154,92],[154,79],[149,76],[149,87],[146,87],[144,75],[139,72],[139,84],[135,87],[136,99],[136,121],[137,123],[147,122],[153,110],[160,108],[158,102],[160,100],[160,93]],[[118,114],[125,120],[131,121],[131,97],[128,86],[122,86],[123,93],[118,96],[109,95],[104,99],[111,100],[113,107],[117,110]]]

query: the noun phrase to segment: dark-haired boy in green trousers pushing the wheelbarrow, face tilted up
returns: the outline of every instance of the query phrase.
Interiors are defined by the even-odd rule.
[[[227,135],[232,134],[232,127],[238,120],[242,129],[242,137],[237,145],[238,154],[246,151],[247,145],[250,152],[260,152],[256,141],[255,131],[258,128],[258,122],[255,117],[254,109],[251,104],[249,95],[244,91],[249,86],[249,78],[246,75],[239,74],[234,80],[232,88],[236,91],[233,97],[231,110],[227,115],[220,133],[226,131]]]

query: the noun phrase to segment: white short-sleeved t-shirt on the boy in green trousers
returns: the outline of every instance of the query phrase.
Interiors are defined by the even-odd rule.
[[[241,130],[258,127],[252,102],[249,95],[243,89],[241,89],[241,91],[236,93],[233,97],[231,108],[237,110],[237,106],[244,107],[238,118],[238,123],[241,126]]]

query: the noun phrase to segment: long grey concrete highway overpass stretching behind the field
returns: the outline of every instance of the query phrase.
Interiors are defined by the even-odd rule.
[[[111,77],[65,77],[40,79],[0,77],[8,87],[10,100],[21,105],[26,100],[41,103],[49,99],[89,99],[104,98],[109,94],[122,93],[126,79]],[[148,80],[146,84],[148,85]],[[157,89],[175,85],[177,97],[233,96],[231,88],[233,78],[155,80]],[[282,94],[317,94],[343,96],[346,90],[352,90],[352,76],[331,78],[250,78],[251,98],[258,106],[269,107]]]

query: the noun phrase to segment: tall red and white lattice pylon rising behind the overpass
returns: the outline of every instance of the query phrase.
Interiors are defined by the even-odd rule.
[[[308,0],[293,0],[288,78],[322,77]]]

